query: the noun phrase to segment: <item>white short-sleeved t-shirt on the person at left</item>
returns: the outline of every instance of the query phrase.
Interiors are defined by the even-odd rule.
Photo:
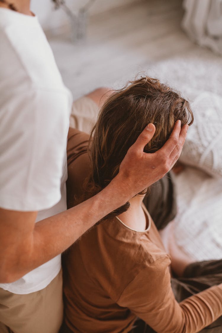
[[[39,211],[38,222],[67,208],[72,96],[37,17],[0,8],[0,47],[0,207]],[[38,291],[60,268],[59,255],[0,287],[17,294]]]

